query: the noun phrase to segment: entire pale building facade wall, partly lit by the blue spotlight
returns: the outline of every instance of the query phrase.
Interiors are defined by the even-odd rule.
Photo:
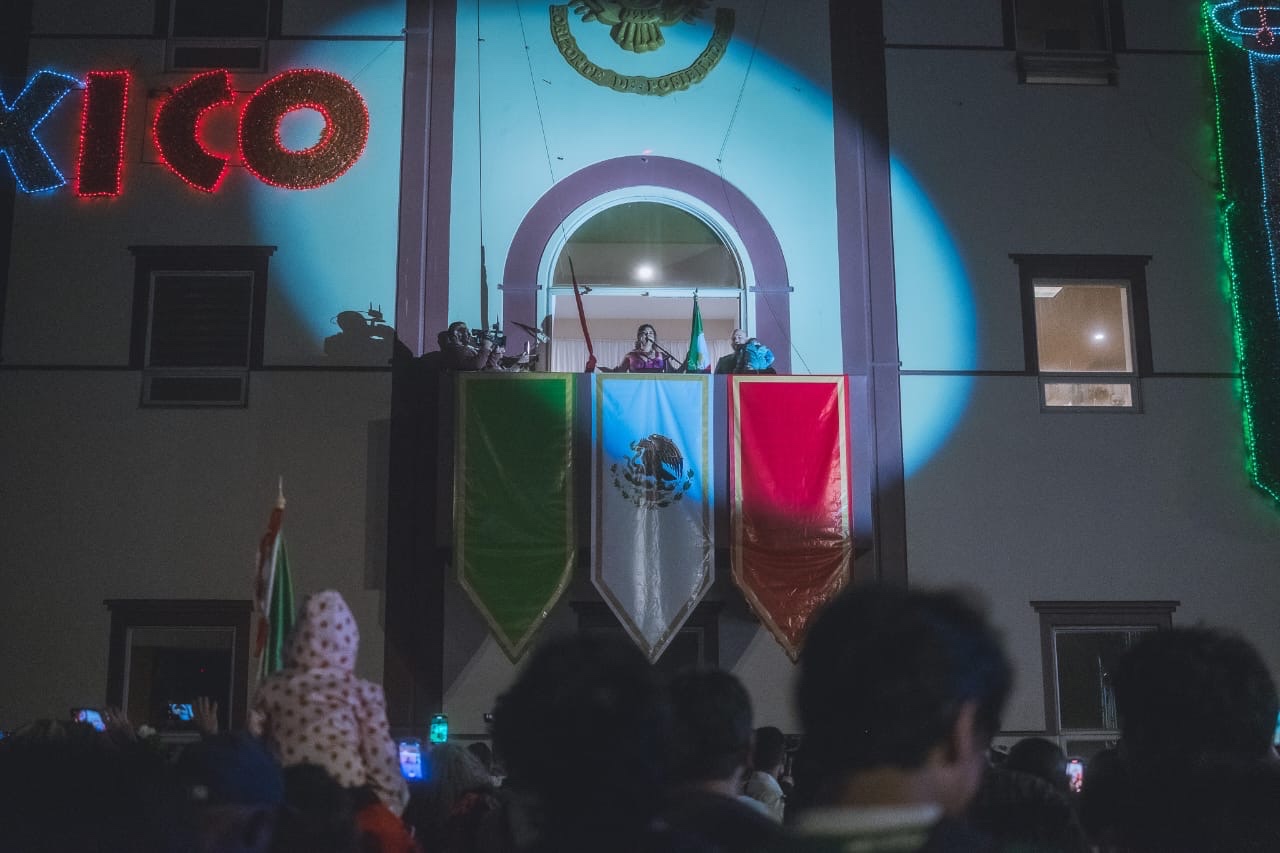
[[[1032,599],[1180,599],[1175,624],[1236,626],[1280,670],[1280,512],[1243,470],[1193,6],[1126,1],[1119,85],[1053,87],[1018,83],[1000,0],[886,4],[901,360],[923,371],[902,382],[910,579],[989,601],[1019,669],[1010,729],[1044,722]],[[545,4],[460,4],[451,316],[480,316],[484,245],[493,319],[512,237],[552,186],[649,151],[722,174],[763,211],[795,287],[792,341],[771,343],[792,347],[797,373],[840,369],[828,8],[733,8],[719,67],[659,99],[573,72],[547,36]],[[101,701],[104,598],[247,597],[278,474],[296,583],[351,598],[358,667],[379,678],[389,380],[315,368],[339,310],[380,304],[394,321],[402,26],[397,3],[287,3],[282,28],[300,38],[270,45],[269,72],[351,79],[370,105],[369,149],[323,190],[274,190],[236,168],[204,195],[150,150],[147,91],[187,77],[163,73],[150,10],[36,3],[33,69],[132,68],[136,100],[120,199],[63,190],[17,202],[0,350],[0,727]],[[687,64],[710,24],[669,31],[646,56],[622,56],[603,27],[573,31],[600,64],[654,74]],[[237,74],[236,87],[265,77]],[[78,99],[41,129],[67,172]],[[225,118],[207,128],[212,142],[233,131]],[[266,332],[276,369],[255,371],[243,410],[140,410],[140,377],[124,369],[125,247],[206,242],[279,246]],[[1152,256],[1157,375],[1143,379],[1140,414],[1039,411],[1036,378],[1018,375],[1011,252]],[[447,597],[444,710],[475,734],[515,667],[452,581]],[[580,576],[566,602],[591,597]],[[794,730],[794,667],[727,578],[710,597],[724,602],[722,663],[760,722]],[[547,630],[573,624],[562,603]]]

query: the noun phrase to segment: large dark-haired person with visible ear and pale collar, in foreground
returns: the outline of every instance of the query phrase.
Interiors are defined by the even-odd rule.
[[[846,589],[800,656],[801,812],[786,849],[993,849],[963,816],[1010,681],[996,633],[959,594]]]

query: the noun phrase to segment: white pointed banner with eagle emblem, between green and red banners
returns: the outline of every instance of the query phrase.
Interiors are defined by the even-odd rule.
[[[657,661],[714,579],[712,378],[598,374],[591,581]]]

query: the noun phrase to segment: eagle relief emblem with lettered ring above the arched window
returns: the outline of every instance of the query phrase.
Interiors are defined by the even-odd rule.
[[[691,24],[710,6],[710,0],[573,0],[572,8],[582,23],[602,23],[622,50],[650,54],[664,44],[662,31],[681,23]],[[700,83],[728,51],[733,38],[733,10],[716,9],[716,28],[707,47],[687,67],[659,77],[622,74],[599,65],[582,51],[570,31],[570,5],[550,6],[552,38],[564,61],[598,86],[630,95],[671,95]]]

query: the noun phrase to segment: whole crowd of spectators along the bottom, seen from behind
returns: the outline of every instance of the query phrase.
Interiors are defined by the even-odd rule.
[[[399,771],[340,596],[303,603],[247,731],[177,756],[122,720],[0,740],[0,853],[1240,853],[1280,850],[1276,686],[1208,628],[1155,631],[1112,674],[1115,749],[1082,790],[1052,740],[991,749],[1011,686],[964,596],[855,585],[800,658],[799,748],[739,680],[663,679],[630,643],[548,639],[498,698],[493,752]],[[497,763],[495,763],[497,762]],[[500,765],[500,771],[498,766]]]

